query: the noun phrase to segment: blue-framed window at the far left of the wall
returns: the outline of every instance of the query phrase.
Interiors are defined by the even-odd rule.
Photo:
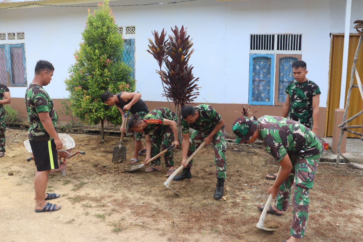
[[[24,44],[0,45],[0,83],[27,86]]]

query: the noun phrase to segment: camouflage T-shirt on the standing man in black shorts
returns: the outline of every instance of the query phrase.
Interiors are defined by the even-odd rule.
[[[39,119],[39,112],[49,112],[53,127],[57,131],[57,113],[53,108],[53,101],[43,87],[30,83],[25,92],[26,112],[28,112],[28,139],[34,141],[48,141],[53,139],[45,131]]]

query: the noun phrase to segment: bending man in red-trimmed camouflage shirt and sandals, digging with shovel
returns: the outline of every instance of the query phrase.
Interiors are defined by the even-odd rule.
[[[160,146],[164,150],[173,144],[175,147],[179,145],[178,129],[176,127],[177,122],[178,119],[176,114],[166,107],[151,110],[141,120],[136,118],[131,118],[129,120],[128,125],[132,130],[135,132],[144,132],[145,134],[147,151],[144,164],[146,164],[151,157],[160,153]],[[151,138],[150,132],[152,132]],[[172,149],[164,154],[164,161],[165,166],[169,168],[166,177],[169,177],[175,171]],[[145,172],[162,171],[160,157],[151,161],[151,165],[152,167],[146,168]]]

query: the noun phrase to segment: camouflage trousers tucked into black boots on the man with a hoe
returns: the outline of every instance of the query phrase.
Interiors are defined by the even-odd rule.
[[[211,132],[203,132],[193,130],[190,134],[190,145],[188,150],[188,158],[192,155],[192,153],[199,147],[199,145],[203,142],[203,139],[207,137]],[[220,131],[217,132],[212,139],[212,145],[214,149],[214,164],[216,165],[216,177],[218,178],[226,178],[227,177],[227,163],[226,157],[224,156],[224,152],[226,151],[226,141],[224,137],[224,127],[221,128]],[[193,160],[189,162],[187,167],[192,167]]]

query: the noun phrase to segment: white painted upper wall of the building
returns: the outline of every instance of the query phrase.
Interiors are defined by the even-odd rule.
[[[153,3],[143,0],[138,3]],[[134,4],[132,0],[111,1],[110,5]],[[95,3],[87,4],[95,5]],[[1,8],[1,4],[0,4]],[[93,8],[91,8],[93,9]],[[187,26],[195,52],[189,63],[202,88],[196,102],[247,103],[250,33],[302,33],[302,59],[308,78],[321,89],[321,107],[326,107],[330,54],[330,33],[344,32],[345,3],[342,0],[253,0],[113,7],[119,26],[136,26],[137,91],[148,101],[165,101],[155,69],[158,65],[146,52],[152,30]],[[352,21],[362,19],[362,0],[353,0]],[[52,98],[68,96],[64,79],[74,63],[87,7],[41,7],[0,10],[0,33],[24,32],[28,84],[35,63],[48,60],[55,67],[46,90]],[[352,24],[353,26],[353,24]],[[355,32],[352,28],[351,32]],[[125,36],[125,38],[127,38]],[[9,41],[5,41],[9,43]],[[5,43],[0,41],[1,43]],[[15,41],[17,42],[17,41]],[[12,97],[24,97],[25,87],[11,87]]]

